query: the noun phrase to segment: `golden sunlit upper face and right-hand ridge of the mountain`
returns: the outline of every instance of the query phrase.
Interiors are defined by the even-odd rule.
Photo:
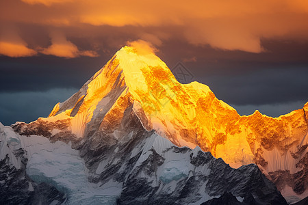
[[[82,138],[112,131],[127,103],[140,110],[148,131],[175,145],[200,146],[232,167],[256,163],[285,195],[308,195],[308,103],[279,118],[259,111],[240,116],[207,85],[179,83],[154,53],[125,46],[77,94],[57,104],[51,118],[41,120],[70,120],[70,131]]]

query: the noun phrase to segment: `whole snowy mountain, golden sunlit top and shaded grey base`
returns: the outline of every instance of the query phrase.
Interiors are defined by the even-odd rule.
[[[48,118],[0,123],[0,202],[296,203],[308,196],[307,115],[308,102],[241,116],[125,46]]]

